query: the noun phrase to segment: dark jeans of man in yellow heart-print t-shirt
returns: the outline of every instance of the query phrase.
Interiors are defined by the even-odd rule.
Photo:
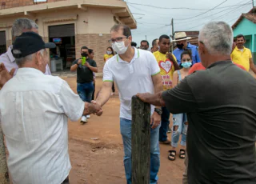
[[[161,115],[161,126],[159,129],[159,141],[165,142],[167,140],[167,131],[170,125],[170,112],[166,107],[162,107],[162,115]]]

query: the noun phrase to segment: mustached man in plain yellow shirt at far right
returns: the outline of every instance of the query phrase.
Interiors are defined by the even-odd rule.
[[[250,49],[246,48],[244,44],[246,39],[242,34],[238,34],[236,37],[236,47],[231,53],[232,62],[242,65],[247,71],[252,70],[256,74],[256,67],[254,66],[253,57],[251,55]]]

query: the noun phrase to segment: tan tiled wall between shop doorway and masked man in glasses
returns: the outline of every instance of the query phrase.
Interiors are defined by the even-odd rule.
[[[104,66],[103,55],[106,54],[106,48],[110,46],[107,42],[110,39],[110,34],[77,34],[75,35],[75,51],[76,58],[81,57],[80,49],[82,46],[94,50],[94,61],[97,62],[98,73],[102,73]]]

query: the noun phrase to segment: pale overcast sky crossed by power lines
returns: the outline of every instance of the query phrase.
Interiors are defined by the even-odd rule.
[[[151,45],[154,38],[159,38],[162,34],[170,35],[171,18],[174,18],[174,31],[200,30],[210,21],[225,21],[232,26],[242,13],[247,13],[252,8],[252,0],[125,1],[137,21],[137,30],[132,30],[133,40],[137,42],[137,46],[140,46],[142,39],[147,38]],[[254,5],[255,3],[256,1]]]

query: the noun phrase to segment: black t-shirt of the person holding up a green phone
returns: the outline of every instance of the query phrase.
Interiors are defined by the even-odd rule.
[[[88,62],[90,66],[97,67],[96,62],[90,58],[87,58],[86,62]],[[78,63],[78,59],[75,60],[72,65],[75,65],[77,63]],[[93,81],[94,81],[93,71],[87,68],[86,66],[82,66],[80,64],[77,69],[77,82],[86,83],[86,82],[93,82]]]

